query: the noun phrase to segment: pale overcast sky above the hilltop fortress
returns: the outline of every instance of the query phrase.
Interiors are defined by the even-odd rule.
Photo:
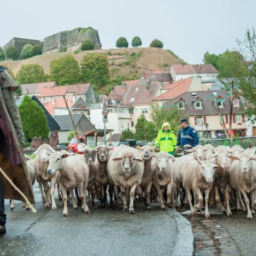
[[[5,10],[5,11],[4,11]],[[1,1],[0,46],[12,37],[43,39],[76,27],[99,32],[102,49],[124,36],[141,47],[157,38],[181,59],[202,63],[204,53],[237,47],[246,29],[256,27],[255,0],[9,0]]]

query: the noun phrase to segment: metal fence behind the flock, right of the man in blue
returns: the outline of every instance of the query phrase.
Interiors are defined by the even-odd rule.
[[[256,147],[256,137],[241,137],[241,138],[235,138],[233,140],[230,139],[216,139],[216,140],[199,140],[199,145],[205,145],[205,144],[211,144],[213,147],[217,146],[234,146],[234,145],[240,145],[244,149]]]

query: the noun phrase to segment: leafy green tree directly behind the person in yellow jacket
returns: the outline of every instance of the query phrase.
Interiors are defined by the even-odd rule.
[[[180,119],[184,117],[183,115],[181,116],[178,108],[175,106],[163,106],[161,108],[151,107],[150,116],[157,130],[162,128],[163,123],[168,122],[175,133],[179,132]]]

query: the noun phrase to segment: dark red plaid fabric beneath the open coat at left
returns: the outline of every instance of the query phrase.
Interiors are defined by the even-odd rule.
[[[12,165],[21,164],[18,150],[12,138],[12,133],[9,131],[7,120],[4,115],[4,110],[0,105],[0,153],[7,158]]]

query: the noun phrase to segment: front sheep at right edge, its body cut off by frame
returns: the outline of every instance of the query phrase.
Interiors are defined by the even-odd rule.
[[[230,186],[231,188],[239,190],[242,193],[247,208],[247,219],[252,220],[250,201],[247,193],[253,192],[252,210],[254,211],[256,206],[256,198],[253,191],[255,189],[254,180],[256,179],[256,166],[254,161],[256,158],[250,152],[242,152],[238,155],[238,157],[229,157],[233,160],[230,168]],[[237,195],[239,196],[238,193]],[[239,207],[238,200],[239,198],[237,198],[237,206]]]

